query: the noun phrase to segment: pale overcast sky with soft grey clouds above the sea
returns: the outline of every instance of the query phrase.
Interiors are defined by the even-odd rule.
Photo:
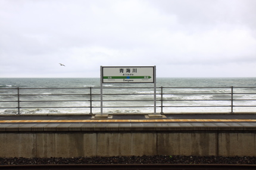
[[[255,0],[0,0],[0,78],[99,78],[100,66],[256,77],[255,9]]]

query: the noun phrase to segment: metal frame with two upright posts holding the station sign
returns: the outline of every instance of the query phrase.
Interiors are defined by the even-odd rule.
[[[152,68],[152,82],[151,81],[142,81],[142,82],[138,82],[138,81],[124,81],[124,80],[129,80],[134,78],[134,79],[150,79],[148,78],[147,76],[150,76],[150,75],[139,75],[139,74],[135,74],[133,73],[133,75],[104,75],[104,68],[108,68],[108,69],[112,69],[112,68],[115,68],[115,69],[139,69],[139,68]],[[154,114],[157,114],[157,81],[156,81],[156,66],[116,66],[116,67],[105,67],[105,66],[101,66],[101,115],[103,114],[103,85],[102,84],[130,84],[130,83],[154,83]],[[135,72],[135,70],[133,70],[133,72]],[[145,72],[143,72],[145,73]],[[124,73],[125,74],[125,73]],[[135,78],[136,76],[136,78]],[[115,81],[111,81],[111,82],[104,82],[104,77],[105,79],[123,79],[123,82],[121,81],[118,81],[118,82],[115,82]]]

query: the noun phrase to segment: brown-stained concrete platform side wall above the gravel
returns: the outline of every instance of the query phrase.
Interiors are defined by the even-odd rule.
[[[256,156],[255,131],[10,131],[0,157]]]

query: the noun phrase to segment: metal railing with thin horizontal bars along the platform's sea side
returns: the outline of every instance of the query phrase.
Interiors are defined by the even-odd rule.
[[[120,92],[120,89],[126,91]],[[135,90],[136,89],[136,90]],[[142,89],[144,92],[140,92]],[[114,102],[103,108],[153,108],[154,92],[149,87],[104,87],[103,102]],[[61,90],[61,92],[56,92]],[[1,109],[17,110],[21,114],[21,109],[31,108],[88,108],[89,114],[93,114],[94,108],[101,108],[99,105],[100,88],[0,88],[0,113]],[[37,92],[40,93],[37,93]],[[49,92],[51,91],[51,92]],[[106,92],[107,91],[107,92]],[[118,91],[118,93],[115,93]],[[237,91],[237,92],[236,92]],[[108,93],[110,92],[110,93]],[[124,99],[124,96],[132,96],[132,99]],[[139,96],[143,95],[143,98]],[[250,95],[249,98],[248,95]],[[111,97],[112,96],[112,97]],[[207,96],[210,96],[207,98]],[[58,98],[56,98],[58,97]],[[68,100],[60,100],[68,98]],[[41,98],[41,100],[38,100]],[[139,99],[136,99],[139,98]],[[214,104],[210,104],[213,102]],[[63,105],[64,102],[79,102],[77,105]],[[85,104],[86,102],[86,104]],[[98,104],[97,104],[98,102]],[[119,105],[117,102],[135,102],[135,105]],[[138,105],[144,102],[143,105]],[[145,104],[148,102],[149,104]],[[207,102],[207,103],[203,103]],[[217,104],[216,104],[217,102]],[[234,104],[237,102],[237,104]],[[251,104],[248,105],[248,102]],[[43,103],[43,105],[42,105]],[[54,106],[49,106],[55,103]],[[61,103],[61,105],[59,105]],[[81,105],[82,104],[82,105]],[[221,107],[230,108],[228,112],[234,113],[235,107],[252,107],[256,112],[256,87],[158,87],[157,88],[157,108],[158,113],[167,113],[167,108],[210,108]],[[255,111],[254,111],[255,110]],[[248,112],[248,111],[247,111]]]

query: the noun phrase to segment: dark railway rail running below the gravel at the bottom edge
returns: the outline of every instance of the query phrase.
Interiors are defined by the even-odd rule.
[[[176,169],[176,170],[245,170],[245,169],[256,169],[256,165],[220,165],[220,164],[107,164],[107,165],[0,165],[0,169],[41,169],[41,170],[51,170],[51,169],[64,169],[64,170],[98,170],[98,169],[126,169],[126,170],[166,170],[166,169]]]

